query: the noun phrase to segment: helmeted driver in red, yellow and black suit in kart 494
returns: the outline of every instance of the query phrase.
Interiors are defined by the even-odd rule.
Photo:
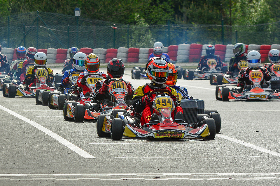
[[[135,90],[133,95],[133,107],[136,112],[142,113],[141,125],[147,123],[158,123],[159,118],[153,110],[153,94],[151,98],[148,98],[149,93],[154,89],[167,89],[173,94],[171,98],[174,101],[175,109],[171,113],[171,117],[175,119],[176,123],[184,123],[183,109],[179,106],[176,90],[172,87],[164,85],[168,78],[169,67],[167,62],[162,58],[151,58],[146,64],[147,77],[151,83],[140,86]],[[176,116],[174,117],[174,115]]]

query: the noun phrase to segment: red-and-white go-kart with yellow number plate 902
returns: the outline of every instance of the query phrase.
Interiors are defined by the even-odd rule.
[[[252,85],[246,85],[242,92],[239,92],[241,89],[233,87],[230,90],[224,85],[216,86],[216,99],[229,101],[230,99],[248,99],[248,100],[259,100],[259,99],[279,99],[280,91],[272,90],[267,87],[267,84],[260,84],[263,81],[262,70],[259,67],[250,67],[249,80],[252,82]]]

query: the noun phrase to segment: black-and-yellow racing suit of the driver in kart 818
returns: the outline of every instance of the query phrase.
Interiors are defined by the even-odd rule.
[[[36,78],[35,78],[35,74],[34,74],[34,71],[37,69],[37,68],[45,68],[47,71],[48,71],[48,79],[46,79],[46,84],[49,86],[49,87],[53,87],[52,83],[53,83],[53,71],[50,69],[50,68],[47,68],[47,67],[42,67],[42,66],[37,66],[37,67],[31,67],[28,69],[27,71],[27,74],[25,76],[25,81],[28,85],[28,87],[31,87],[31,86],[35,86],[36,83],[40,83]],[[35,84],[35,85],[34,85]]]

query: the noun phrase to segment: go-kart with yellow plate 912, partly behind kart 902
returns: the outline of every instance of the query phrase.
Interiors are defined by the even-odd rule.
[[[247,68],[248,63],[246,60],[240,60],[237,63],[239,70],[235,70],[232,74],[211,74],[210,75],[210,85],[223,85],[223,84],[237,84],[238,83],[238,74],[241,69]]]

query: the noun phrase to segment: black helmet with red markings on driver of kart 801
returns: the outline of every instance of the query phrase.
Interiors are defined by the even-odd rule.
[[[107,74],[110,78],[122,78],[125,73],[125,64],[121,59],[113,58],[107,64]]]

